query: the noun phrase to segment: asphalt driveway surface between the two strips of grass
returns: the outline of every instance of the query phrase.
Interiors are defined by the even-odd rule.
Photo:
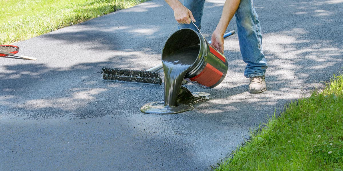
[[[148,115],[164,87],[102,80],[102,67],[161,62],[176,24],[163,0],[14,43],[37,61],[0,58],[0,170],[210,170],[284,105],[322,88],[342,67],[343,0],[255,0],[269,62],[268,91],[249,94],[237,35],[228,74],[193,111]],[[224,0],[205,3],[210,40]],[[227,31],[237,30],[235,18]]]

